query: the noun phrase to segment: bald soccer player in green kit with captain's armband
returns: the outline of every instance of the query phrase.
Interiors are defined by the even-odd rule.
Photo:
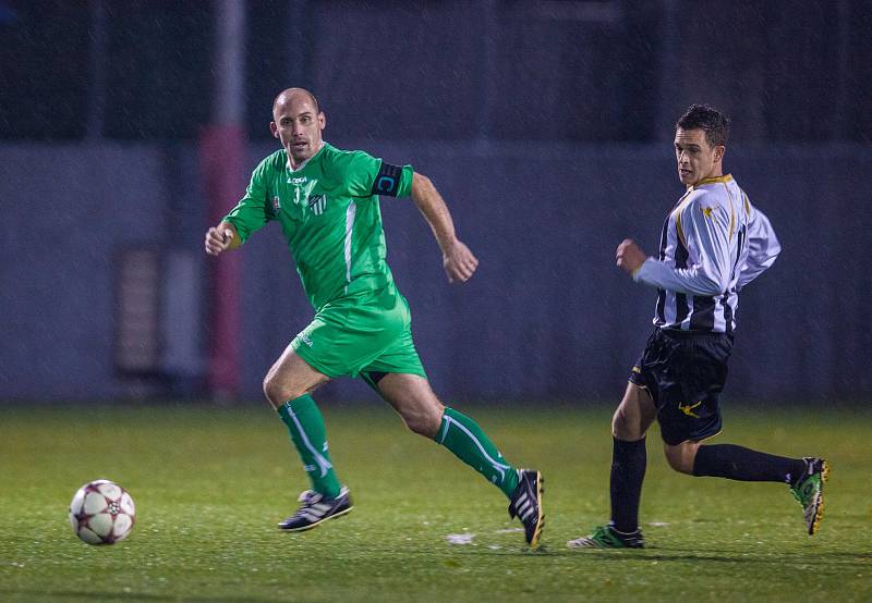
[[[314,320],[264,379],[264,393],[288,427],[312,483],[299,510],[279,528],[307,530],[351,510],[311,394],[330,379],[360,376],[410,430],[444,445],[499,488],[509,499],[509,515],[523,524],[528,544],[537,546],[541,473],[514,468],[474,420],[438,401],[412,342],[409,305],[385,261],[378,198],[411,196],[439,244],[449,282],[472,276],[479,261],[457,238],[441,196],[411,165],[325,143],[326,118],[308,90],[279,94],[272,119],[269,127],[281,150],[254,170],[245,196],[206,232],[205,246],[217,256],[278,222],[315,308]]]

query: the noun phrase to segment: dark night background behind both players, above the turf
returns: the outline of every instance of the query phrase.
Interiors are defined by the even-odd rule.
[[[614,249],[626,236],[654,249],[681,193],[673,124],[708,102],[734,120],[725,169],[784,246],[742,294],[728,395],[869,398],[872,2],[244,8],[242,177],[277,148],[276,93],[307,87],[327,140],[429,175],[479,256],[475,278],[448,286],[414,206],[383,199],[437,392],[617,401],[655,293]],[[208,395],[199,137],[223,76],[217,19],[213,2],[0,0],[0,398]],[[181,310],[160,306],[147,374],[118,370],[130,249],[183,267],[161,271],[158,296],[187,292]],[[312,311],[277,230],[242,258],[238,394],[257,398]],[[370,395],[349,380],[323,393]]]

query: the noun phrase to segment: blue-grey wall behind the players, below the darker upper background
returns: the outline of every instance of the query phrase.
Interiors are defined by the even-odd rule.
[[[429,175],[481,261],[468,284],[448,285],[411,200],[383,199],[388,261],[439,394],[617,399],[647,336],[655,294],[615,268],[614,250],[625,236],[655,250],[681,193],[668,146],[360,146]],[[251,167],[271,149],[252,148]],[[215,261],[202,255],[196,157],[193,147],[0,148],[0,397],[133,391],[112,371],[112,258],[124,246],[156,244],[195,254],[201,269]],[[862,249],[872,224],[862,174],[872,152],[737,147],[727,167],[784,245],[774,268],[742,294],[727,394],[869,396],[872,286]],[[241,253],[244,396],[261,398],[263,374],[312,310],[277,229]],[[197,320],[205,332],[205,318]],[[372,397],[350,380],[320,396]]]

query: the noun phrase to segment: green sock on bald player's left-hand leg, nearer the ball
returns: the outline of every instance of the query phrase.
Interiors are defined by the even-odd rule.
[[[293,445],[303,459],[303,468],[312,482],[312,490],[326,499],[339,494],[342,485],[334,472],[327,452],[327,430],[324,417],[312,396],[304,395],[279,407],[279,417],[288,426]]]

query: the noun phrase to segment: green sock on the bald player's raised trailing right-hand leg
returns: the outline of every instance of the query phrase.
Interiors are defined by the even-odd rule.
[[[518,487],[518,471],[506,463],[479,423],[453,408],[446,407],[443,424],[434,440],[511,499]]]

